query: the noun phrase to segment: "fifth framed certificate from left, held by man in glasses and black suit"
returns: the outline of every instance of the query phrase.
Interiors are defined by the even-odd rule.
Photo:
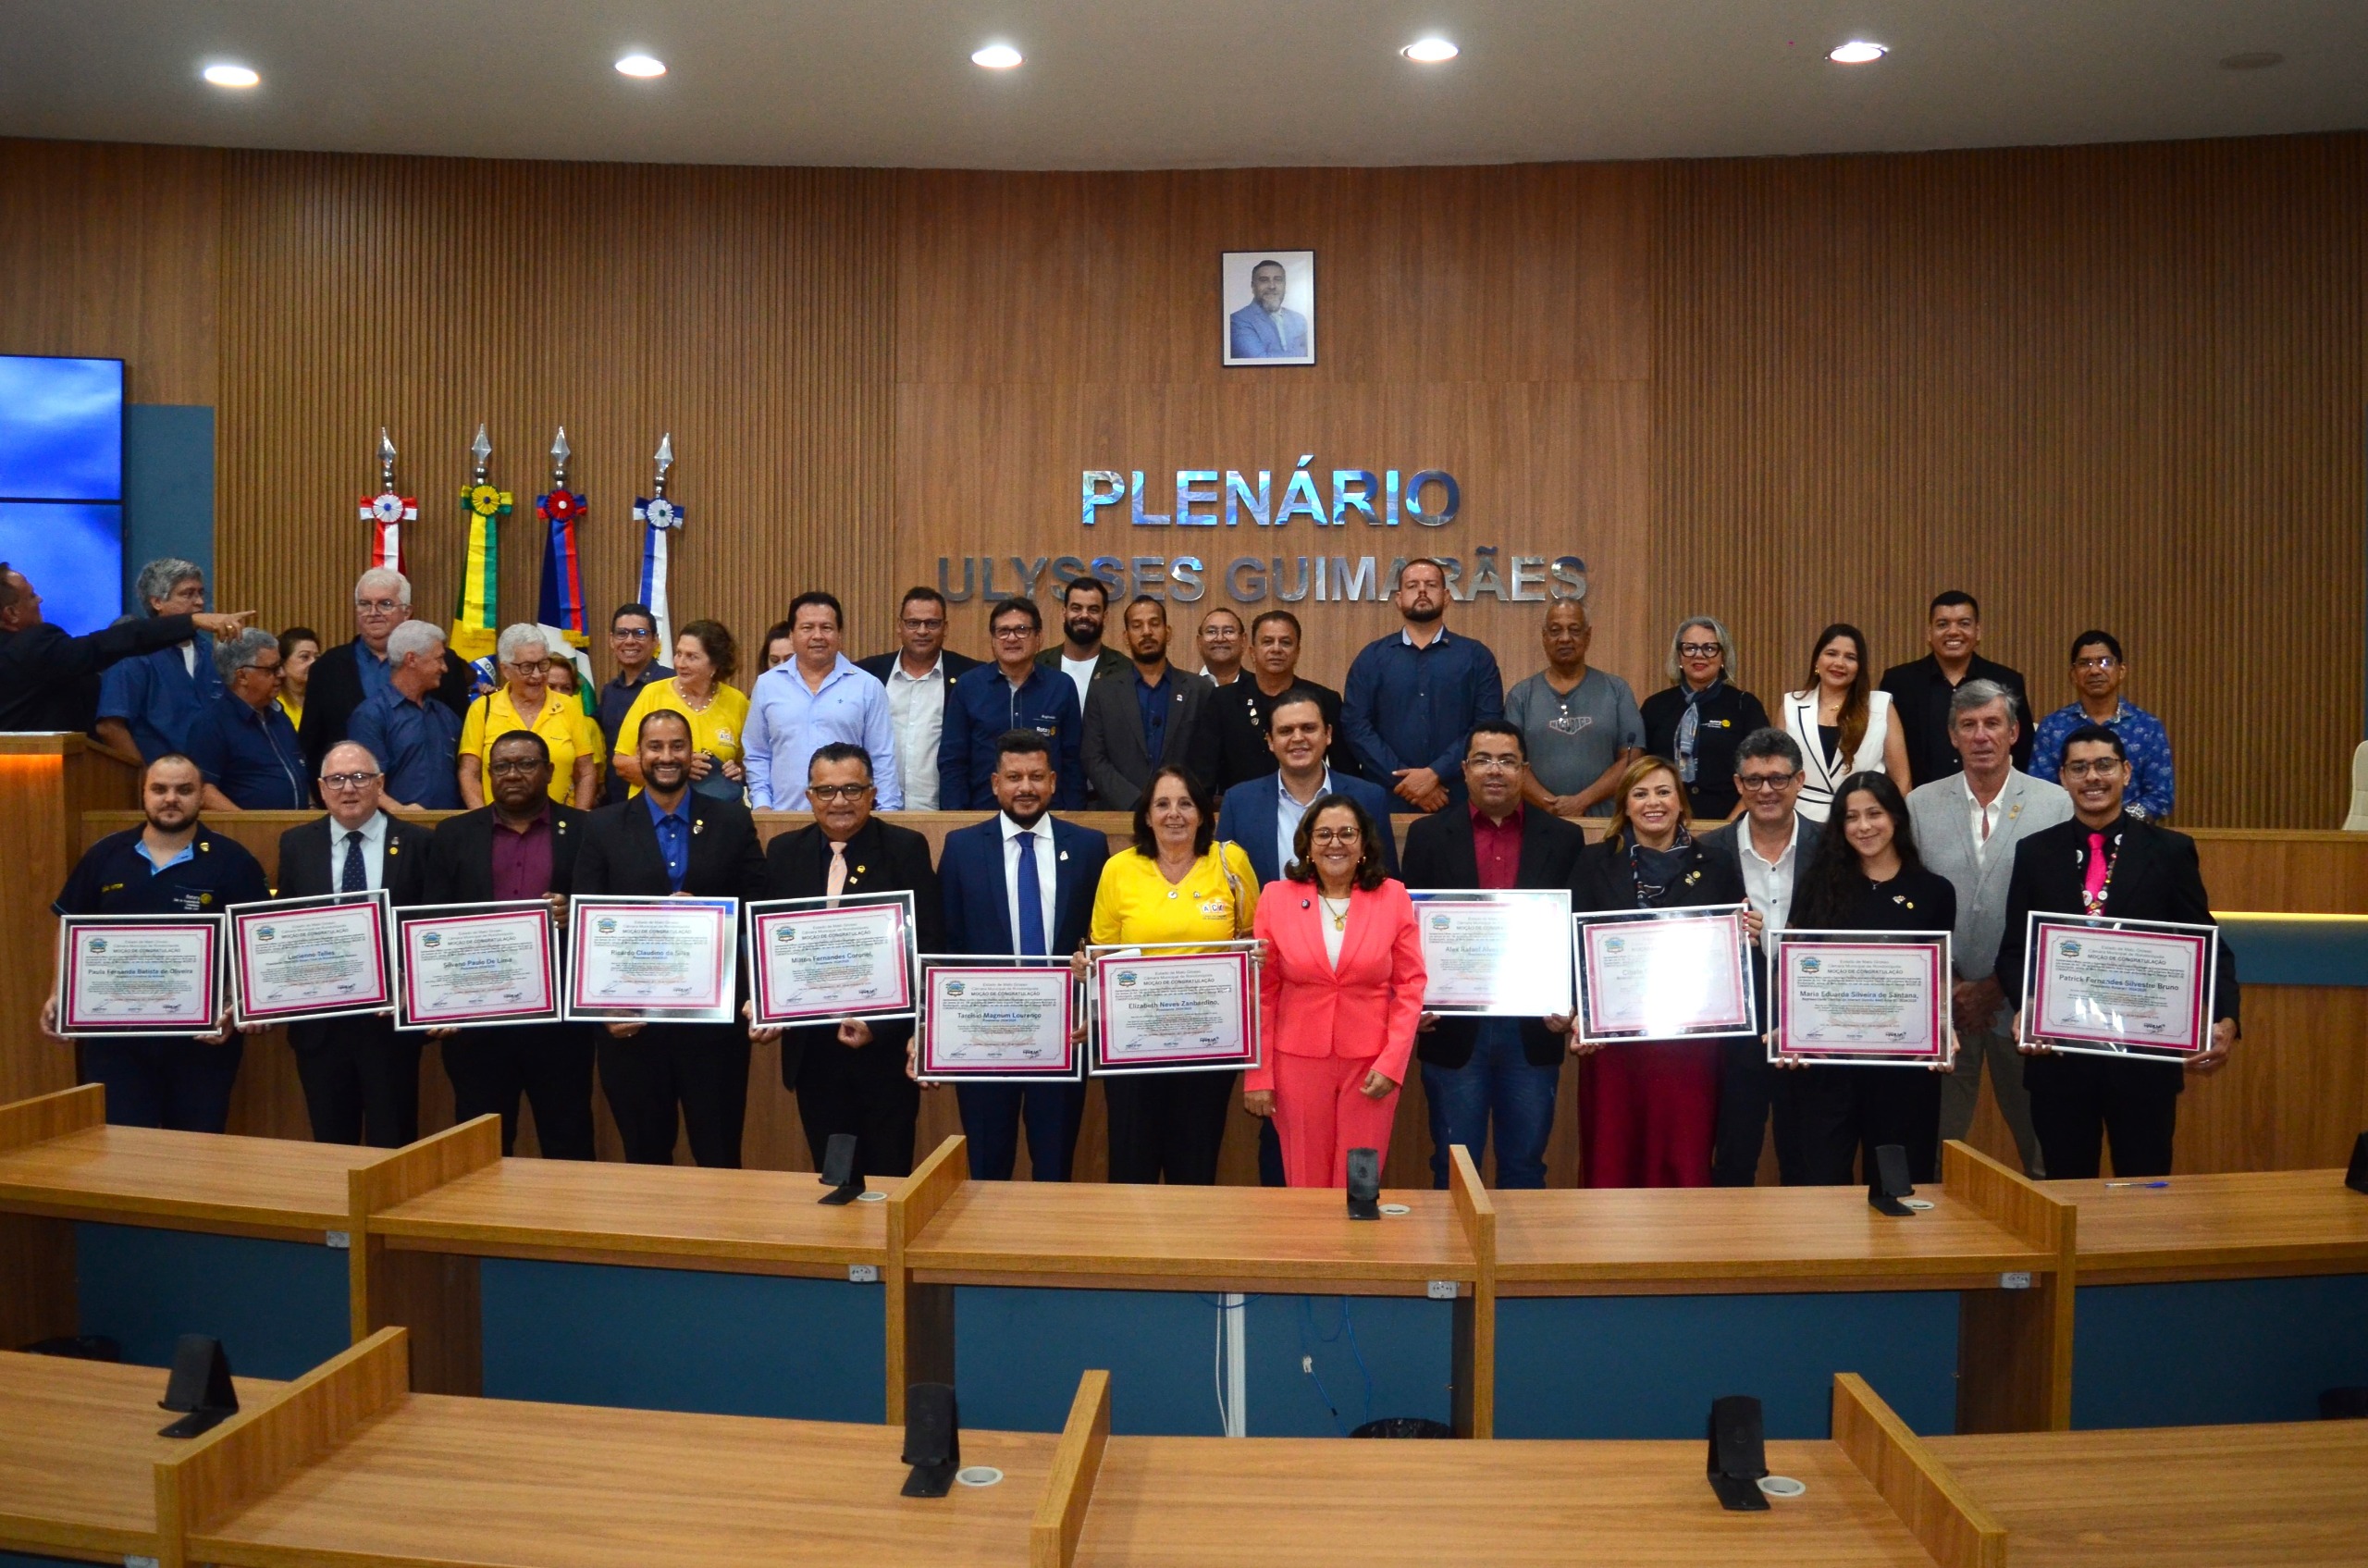
[[[912,1018],[919,962],[912,893],[748,905],[748,1002],[758,1023]]]

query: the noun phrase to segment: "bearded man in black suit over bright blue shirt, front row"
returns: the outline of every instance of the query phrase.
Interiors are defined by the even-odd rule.
[[[625,898],[765,895],[765,850],[739,801],[691,789],[691,722],[673,708],[642,715],[635,737],[642,793],[604,805],[575,850],[575,893]],[[748,1118],[748,1030],[739,1023],[609,1023],[599,1082],[637,1165],[670,1165],[675,1113],[701,1165],[739,1168]]]

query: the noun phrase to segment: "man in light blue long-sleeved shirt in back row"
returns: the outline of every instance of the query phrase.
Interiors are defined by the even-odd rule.
[[[798,651],[758,675],[741,734],[741,767],[755,810],[807,810],[805,765],[831,741],[862,746],[871,758],[879,810],[905,810],[888,687],[838,651],[843,628],[845,616],[831,595],[807,592],[789,602],[789,640]]]

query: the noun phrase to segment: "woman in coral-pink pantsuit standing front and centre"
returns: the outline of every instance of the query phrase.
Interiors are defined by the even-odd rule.
[[[1291,1187],[1347,1187],[1350,1149],[1390,1153],[1426,981],[1414,900],[1383,876],[1381,831],[1362,805],[1324,796],[1300,817],[1255,933],[1267,945],[1267,1049],[1243,1108],[1274,1118]]]

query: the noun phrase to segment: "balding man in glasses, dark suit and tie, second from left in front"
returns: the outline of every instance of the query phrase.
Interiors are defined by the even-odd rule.
[[[339,741],[315,784],[329,815],[279,834],[279,898],[386,888],[388,902],[424,902],[431,834],[379,810],[379,758]],[[400,1149],[419,1137],[419,1047],[386,1014],[289,1023],[313,1142]]]

